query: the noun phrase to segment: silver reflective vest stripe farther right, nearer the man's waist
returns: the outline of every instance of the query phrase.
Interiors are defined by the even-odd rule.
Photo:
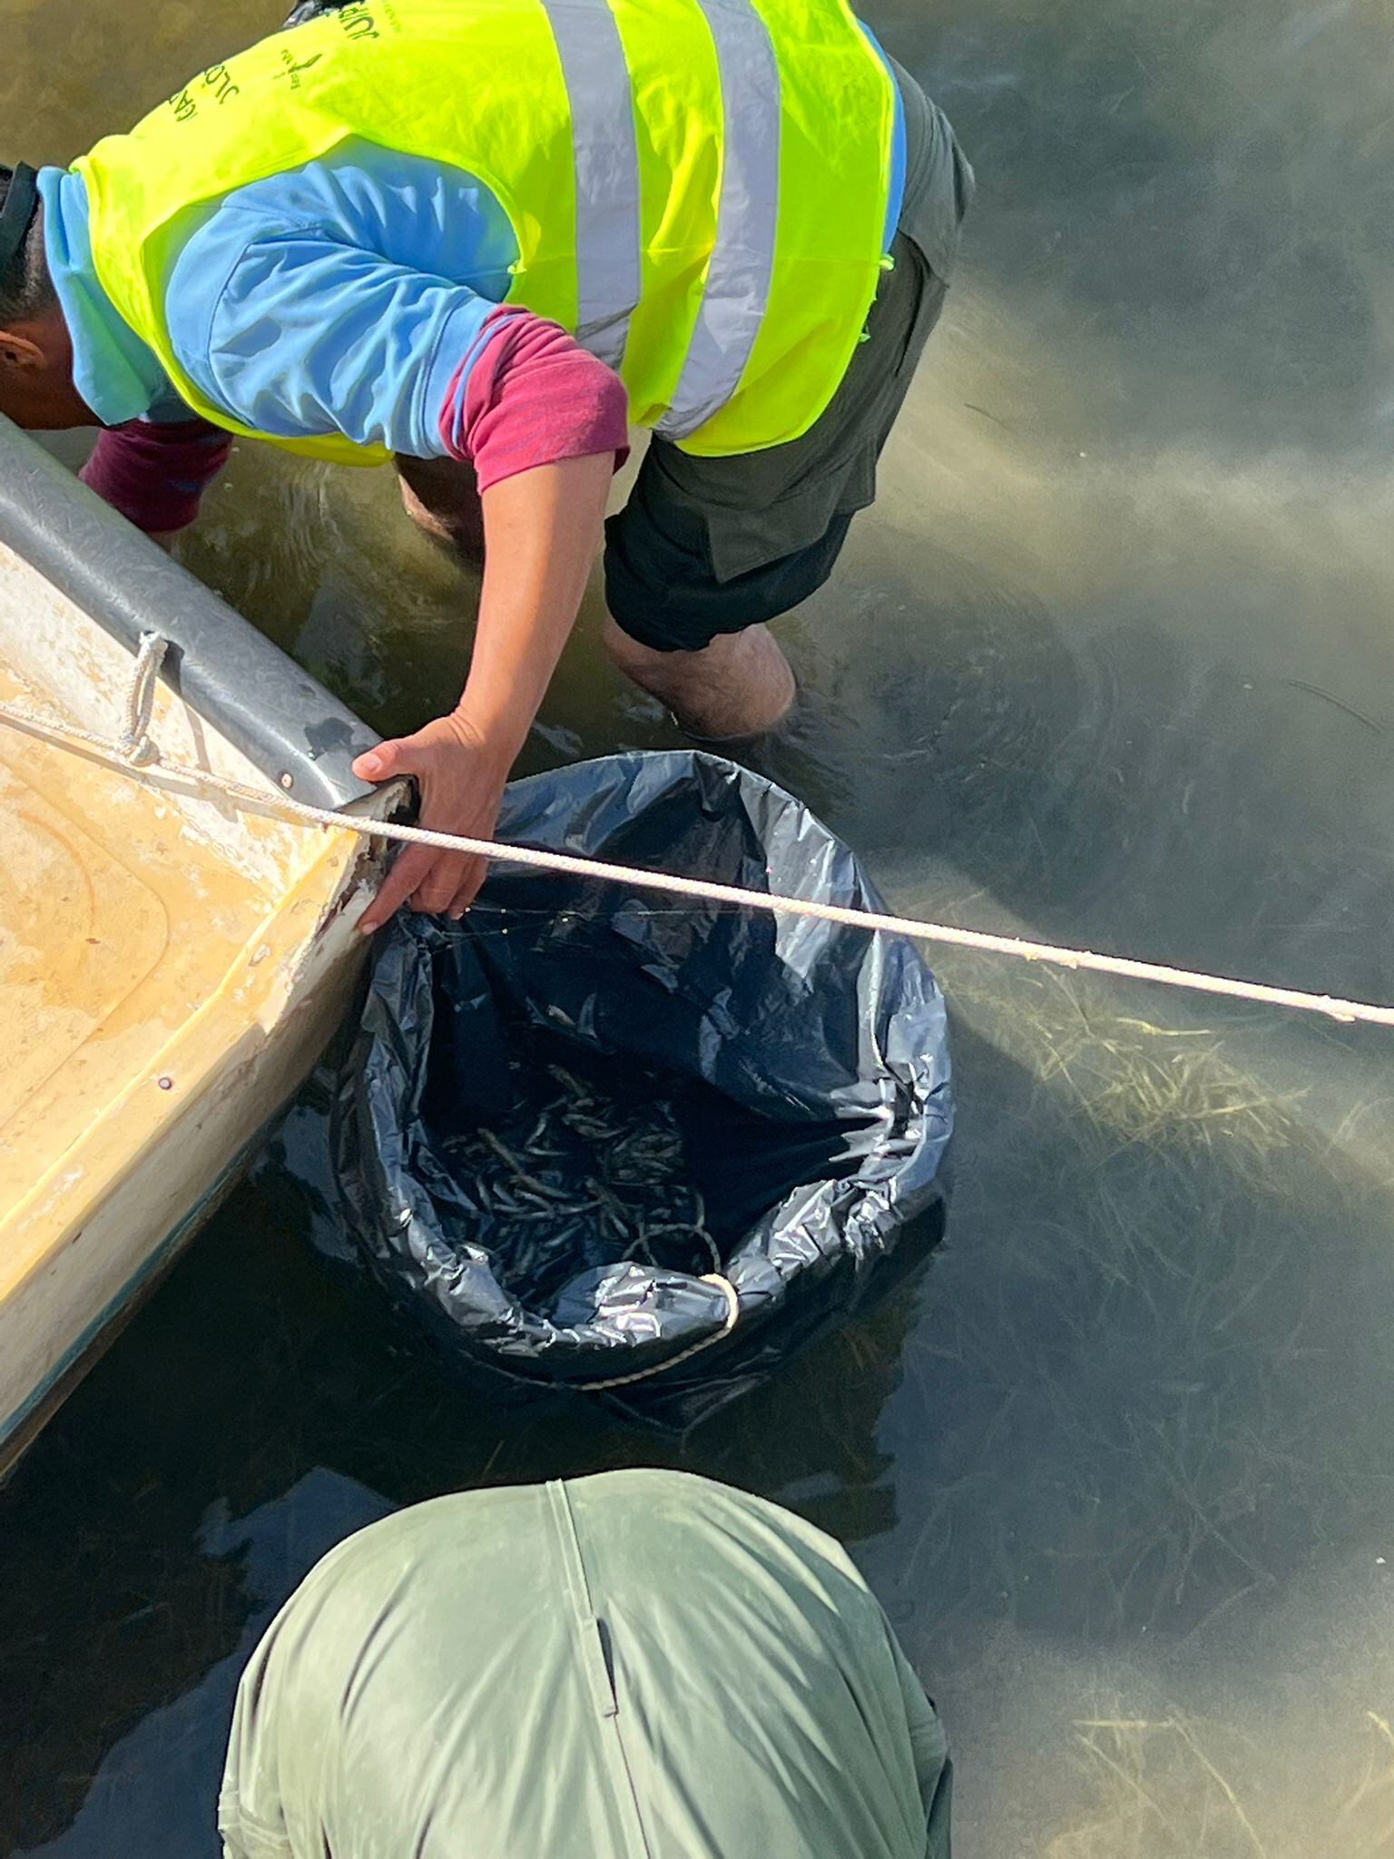
[[[723,165],[716,249],[673,403],[658,422],[686,439],[732,398],[760,333],[779,223],[779,61],[749,0],[697,0],[721,73]]]

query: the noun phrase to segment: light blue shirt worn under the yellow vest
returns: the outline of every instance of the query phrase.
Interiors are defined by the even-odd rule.
[[[887,247],[905,184],[900,93],[894,149]],[[82,177],[46,167],[39,193],[85,403],[104,426],[188,415],[97,279]],[[442,457],[446,396],[517,257],[507,216],[472,175],[348,141],[203,214],[165,286],[169,338],[206,400],[242,426]]]

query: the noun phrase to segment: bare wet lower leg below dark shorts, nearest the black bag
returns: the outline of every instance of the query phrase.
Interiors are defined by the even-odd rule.
[[[794,708],[794,671],[768,626],[717,634],[701,653],[656,653],[606,615],[602,639],[630,682],[706,742],[760,736]]]

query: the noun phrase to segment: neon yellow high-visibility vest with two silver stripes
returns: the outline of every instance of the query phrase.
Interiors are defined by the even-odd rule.
[[[690,452],[797,439],[875,297],[892,78],[846,0],[355,0],[214,65],[74,165],[97,277],[182,398],[164,294],[199,210],[364,138],[481,180],[509,303],[610,363]]]

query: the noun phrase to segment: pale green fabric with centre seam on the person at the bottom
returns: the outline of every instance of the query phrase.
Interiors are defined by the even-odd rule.
[[[342,1543],[238,1690],[229,1859],[946,1859],[948,1753],[846,1554],[680,1472]]]

